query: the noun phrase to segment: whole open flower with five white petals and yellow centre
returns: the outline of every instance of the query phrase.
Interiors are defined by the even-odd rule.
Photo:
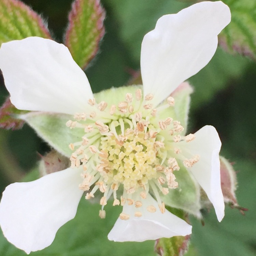
[[[207,65],[216,51],[218,33],[229,22],[229,8],[221,1],[197,3],[162,16],[142,42],[143,86],[96,95],[64,45],[37,37],[2,44],[0,67],[12,103],[37,111],[35,116],[67,114],[66,125],[76,138],[64,140],[73,151],[70,168],[6,187],[0,225],[8,241],[26,253],[42,250],[74,218],[84,191],[90,199],[96,190],[102,193],[100,217],[105,217],[104,205],[112,195],[113,205],[123,205],[110,240],[190,234],[191,226],[167,211],[163,202],[170,190],[179,187],[175,175],[180,168],[203,188],[221,221],[218,133],[205,126],[185,136],[187,113],[179,110],[184,112],[186,106],[175,107],[169,95]],[[28,121],[31,115],[23,118]],[[60,132],[53,129],[51,139],[39,132],[51,145]]]

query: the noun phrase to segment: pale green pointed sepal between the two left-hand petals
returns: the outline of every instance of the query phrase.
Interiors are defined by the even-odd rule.
[[[73,119],[72,115],[31,112],[22,115],[22,118],[43,140],[67,157],[72,154],[69,144],[81,141],[84,135],[82,129],[70,129],[66,126],[68,120]]]

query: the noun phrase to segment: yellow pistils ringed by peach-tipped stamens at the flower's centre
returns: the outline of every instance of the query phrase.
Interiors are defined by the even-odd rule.
[[[174,171],[180,169],[181,163],[188,168],[199,160],[198,155],[183,156],[179,146],[195,136],[182,136],[184,128],[172,117],[159,118],[162,111],[174,105],[174,99],[169,97],[166,104],[153,109],[153,98],[148,94],[143,99],[141,89],[137,89],[134,95],[127,93],[124,101],[111,106],[91,99],[91,111],[75,114],[75,120],[66,124],[84,131],[81,141],[69,145],[73,151],[71,167],[83,168],[79,187],[87,192],[86,199],[94,197],[97,190],[103,193],[101,218],[105,217],[103,208],[111,195],[113,205],[127,203],[140,208],[147,193],[151,193],[163,213],[165,204],[160,194],[178,187]],[[132,195],[138,193],[141,200],[133,200]],[[146,209],[156,211],[153,205],[146,205]],[[142,213],[137,211],[135,216],[141,217]],[[128,219],[129,215],[122,213],[120,218]]]

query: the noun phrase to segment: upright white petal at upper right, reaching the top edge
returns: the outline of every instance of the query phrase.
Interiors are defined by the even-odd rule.
[[[158,19],[141,46],[144,94],[153,93],[158,104],[207,65],[217,35],[229,22],[230,10],[221,1],[197,3]]]

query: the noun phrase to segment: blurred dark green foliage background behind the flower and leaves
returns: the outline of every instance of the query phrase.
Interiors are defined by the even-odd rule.
[[[24,0],[48,20],[56,41],[62,41],[67,26],[71,0]],[[106,10],[106,34],[100,52],[86,74],[94,92],[127,83],[132,70],[140,65],[140,45],[157,19],[188,6],[175,0],[102,0]],[[213,210],[204,213],[205,225],[191,218],[191,236],[198,255],[256,255],[256,63],[247,57],[233,56],[218,48],[202,71],[189,79],[195,92],[191,99],[188,132],[202,126],[216,127],[222,140],[221,154],[234,163],[239,186],[237,198],[248,208],[245,216],[226,206],[221,223]],[[8,95],[0,84],[0,103]],[[19,181],[49,150],[27,125],[22,130],[0,130],[0,190]],[[97,204],[81,201],[75,219],[62,227],[54,243],[31,255],[156,255],[154,242],[114,243],[106,238],[120,209],[106,207],[105,220],[98,217]],[[10,245],[0,234],[0,255],[26,255]]]

